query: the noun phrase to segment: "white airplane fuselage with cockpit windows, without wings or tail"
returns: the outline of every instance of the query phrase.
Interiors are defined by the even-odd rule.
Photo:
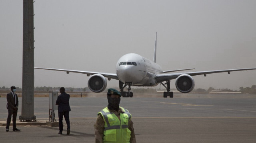
[[[134,53],[122,56],[116,63],[119,80],[134,86],[156,86],[154,77],[162,72],[158,64]]]

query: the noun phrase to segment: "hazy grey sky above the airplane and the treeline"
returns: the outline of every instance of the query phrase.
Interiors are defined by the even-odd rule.
[[[1,87],[22,87],[22,4],[0,1]],[[163,70],[256,67],[255,6],[256,0],[35,0],[34,66],[115,73],[126,53],[153,60],[157,31]],[[85,74],[60,71],[36,69],[34,77],[34,86],[88,82]],[[195,88],[238,90],[256,84],[256,71],[193,78]]]

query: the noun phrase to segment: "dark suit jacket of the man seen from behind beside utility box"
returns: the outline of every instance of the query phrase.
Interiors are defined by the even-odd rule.
[[[66,92],[60,94],[56,100],[56,105],[58,105],[58,112],[71,111],[69,106],[70,95]]]

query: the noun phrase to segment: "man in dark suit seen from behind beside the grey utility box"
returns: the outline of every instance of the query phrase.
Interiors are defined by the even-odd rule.
[[[56,105],[58,105],[58,115],[59,115],[59,134],[62,134],[63,131],[63,116],[65,118],[65,121],[67,123],[67,135],[70,134],[70,121],[69,121],[69,111],[71,111],[69,106],[69,98],[70,95],[65,92],[65,88],[60,88],[60,95],[58,96],[56,100]]]

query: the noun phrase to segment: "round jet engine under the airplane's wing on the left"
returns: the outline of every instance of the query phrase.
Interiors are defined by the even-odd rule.
[[[88,87],[92,92],[102,92],[107,87],[107,80],[102,74],[93,74],[88,80]]]

